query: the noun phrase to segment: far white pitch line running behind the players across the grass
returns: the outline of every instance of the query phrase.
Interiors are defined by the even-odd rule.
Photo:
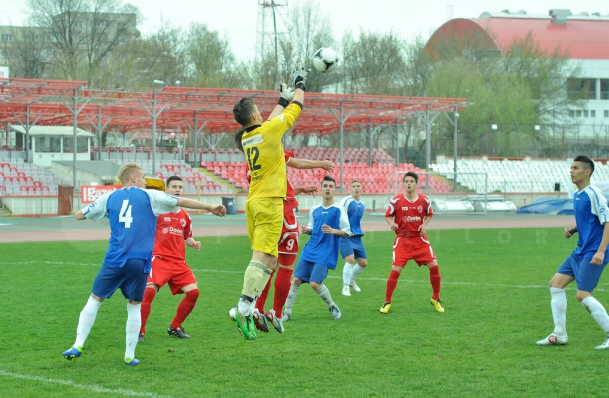
[[[82,265],[86,267],[101,267],[101,264],[85,264],[79,262],[52,262],[52,261],[23,261],[23,262],[0,262],[0,266],[2,265],[29,265],[29,264],[45,264],[45,265]],[[191,268],[192,271],[202,272],[202,273],[223,273],[223,274],[243,274],[244,271],[228,271],[228,270],[199,270],[197,268]],[[328,278],[331,279],[342,279],[342,276],[334,276],[328,275]],[[551,278],[551,275],[548,276]],[[387,281],[387,278],[357,278],[358,281]],[[548,279],[549,281],[549,279]],[[429,284],[429,281],[415,281],[413,279],[403,279],[400,278],[400,282],[402,283],[412,283],[412,284]],[[538,289],[544,288],[547,289],[547,284],[544,285],[510,285],[510,284],[487,284],[487,283],[479,283],[479,282],[453,282],[453,281],[442,281],[442,285],[458,285],[458,286],[484,286],[484,287],[502,287],[502,288],[516,288],[516,289]],[[575,289],[575,284],[570,284],[566,287],[567,290]],[[594,292],[609,292],[607,288],[597,287],[594,289]]]

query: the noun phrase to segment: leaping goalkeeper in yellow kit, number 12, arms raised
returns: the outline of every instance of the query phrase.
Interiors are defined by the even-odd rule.
[[[250,98],[240,100],[233,108],[234,119],[244,131],[241,144],[252,178],[245,200],[252,260],[245,269],[239,303],[231,310],[239,332],[246,340],[256,340],[253,307],[277,266],[277,242],[286,198],[286,160],[281,138],[300,116],[309,71],[302,68],[294,71],[293,93],[287,85],[280,83],[279,102],[266,121],[262,120],[258,106]]]

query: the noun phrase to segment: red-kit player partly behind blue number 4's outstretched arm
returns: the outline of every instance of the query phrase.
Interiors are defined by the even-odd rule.
[[[167,178],[165,188],[167,194],[180,197],[182,190],[183,185],[180,177],[174,175]],[[167,327],[167,333],[179,338],[190,338],[184,332],[182,323],[197,303],[199,288],[192,270],[185,261],[185,244],[196,251],[201,248],[201,242],[192,239],[190,215],[184,209],[159,215],[157,218],[157,234],[152,251],[152,270],[148,276],[146,292],[142,301],[142,326],[139,329],[138,341],[144,341],[146,321],[150,315],[152,300],[157,295],[159,288],[165,284],[169,284],[171,293],[174,295],[186,293],[185,298],[178,305],[174,319]]]

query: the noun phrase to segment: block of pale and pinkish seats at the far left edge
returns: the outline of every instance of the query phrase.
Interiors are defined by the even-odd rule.
[[[60,183],[48,170],[21,158],[0,158],[0,194],[57,195]]]

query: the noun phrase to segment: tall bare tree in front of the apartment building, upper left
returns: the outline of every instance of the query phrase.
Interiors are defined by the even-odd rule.
[[[122,0],[27,0],[27,5],[30,22],[46,29],[65,79],[95,82],[104,58],[139,37],[139,10]]]

